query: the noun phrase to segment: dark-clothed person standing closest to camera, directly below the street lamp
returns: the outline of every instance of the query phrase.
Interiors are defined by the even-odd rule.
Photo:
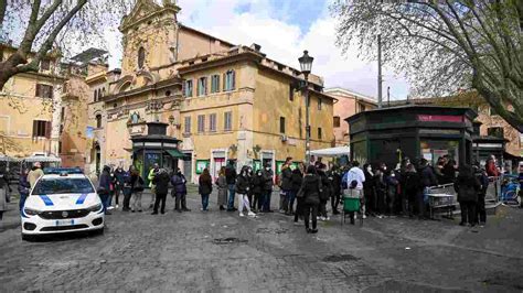
[[[317,218],[318,218],[318,205],[320,204],[320,194],[322,192],[321,178],[317,174],[316,167],[309,165],[307,167],[307,175],[305,175],[301,183],[301,189],[303,193],[303,221],[306,231],[308,234],[318,232]],[[309,227],[309,218],[312,220],[312,229]]]

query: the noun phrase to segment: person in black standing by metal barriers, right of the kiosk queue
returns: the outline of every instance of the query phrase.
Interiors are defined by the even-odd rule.
[[[453,188],[458,193],[459,207],[461,208],[461,223],[459,225],[473,227],[476,225],[476,204],[481,183],[474,176],[472,167],[463,165],[459,170]]]

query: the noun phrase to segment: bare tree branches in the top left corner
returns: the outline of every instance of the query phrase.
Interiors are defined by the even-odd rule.
[[[0,62],[0,89],[12,76],[36,72],[54,47],[102,43],[102,33],[130,10],[134,0],[0,0],[0,39],[20,39]]]

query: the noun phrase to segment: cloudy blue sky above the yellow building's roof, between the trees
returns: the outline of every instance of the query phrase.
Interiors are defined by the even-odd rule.
[[[377,97],[376,62],[359,57],[356,48],[342,55],[335,45],[337,21],[329,0],[178,0],[178,20],[234,44],[257,43],[267,57],[299,68],[303,50],[314,57],[312,73],[324,78],[325,87],[343,87]],[[121,35],[117,28],[105,32],[110,67],[119,67]],[[392,70],[383,72],[383,97],[405,99],[408,83]]]

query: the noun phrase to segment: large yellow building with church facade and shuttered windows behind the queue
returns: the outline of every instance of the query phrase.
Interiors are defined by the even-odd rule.
[[[139,0],[120,25],[121,73],[114,79],[107,72],[87,77],[92,90],[107,89],[102,102],[89,105],[90,121],[98,113],[102,119],[104,134],[93,143],[100,148],[102,164],[135,161],[147,170],[167,162],[168,154],[134,156],[131,138],[147,134],[147,122],[156,121],[180,140],[185,158],[172,162],[192,181],[203,167],[216,174],[231,160],[237,167],[270,164],[273,170],[287,156],[305,160],[302,74],[268,58],[259,45],[234,45],[180,24],[179,11],[170,1]],[[334,99],[322,93],[320,77],[309,80],[311,149],[328,148]]]

